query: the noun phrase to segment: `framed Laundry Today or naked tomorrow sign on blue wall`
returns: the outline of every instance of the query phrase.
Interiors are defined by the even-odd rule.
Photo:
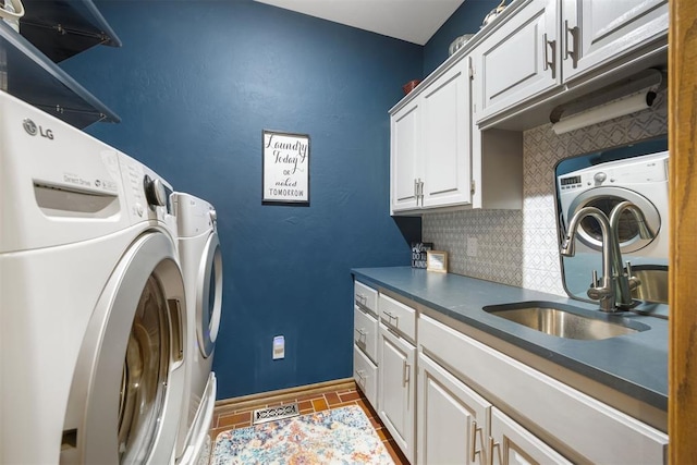
[[[309,206],[309,135],[262,131],[261,203]]]

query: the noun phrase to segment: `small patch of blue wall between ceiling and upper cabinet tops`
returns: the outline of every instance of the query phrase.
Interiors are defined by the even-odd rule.
[[[508,0],[510,4],[512,0]],[[424,76],[448,59],[450,44],[463,34],[476,34],[485,16],[501,0],[465,0],[424,47]]]

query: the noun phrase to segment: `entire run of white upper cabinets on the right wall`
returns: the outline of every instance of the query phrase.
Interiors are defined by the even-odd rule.
[[[521,208],[514,133],[656,65],[667,44],[668,0],[513,1],[390,111],[391,213]]]

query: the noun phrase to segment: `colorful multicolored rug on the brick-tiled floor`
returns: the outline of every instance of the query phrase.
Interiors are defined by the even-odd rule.
[[[223,431],[210,463],[394,464],[357,405]]]

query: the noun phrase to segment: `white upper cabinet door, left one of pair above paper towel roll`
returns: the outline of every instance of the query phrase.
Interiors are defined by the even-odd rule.
[[[557,0],[528,0],[473,50],[475,121],[561,83]]]

